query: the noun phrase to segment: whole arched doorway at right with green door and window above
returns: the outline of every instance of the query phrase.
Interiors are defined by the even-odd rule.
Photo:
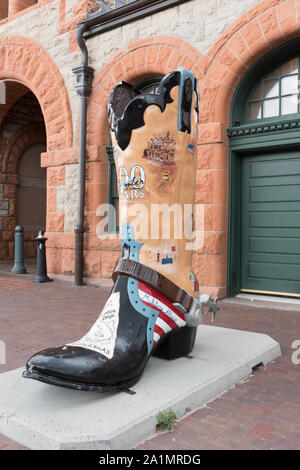
[[[300,42],[237,88],[230,138],[229,295],[300,297]]]

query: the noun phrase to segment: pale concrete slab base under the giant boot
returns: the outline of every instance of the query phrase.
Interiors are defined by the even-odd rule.
[[[130,449],[155,432],[157,415],[178,418],[281,354],[267,335],[201,325],[193,358],[151,358],[136,392],[97,394],[0,375],[0,433],[30,449]]]

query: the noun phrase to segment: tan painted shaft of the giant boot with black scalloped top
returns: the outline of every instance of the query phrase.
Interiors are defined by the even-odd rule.
[[[121,83],[109,103],[119,189],[122,256],[194,297],[191,231],[197,168],[197,83],[180,69],[157,94]]]

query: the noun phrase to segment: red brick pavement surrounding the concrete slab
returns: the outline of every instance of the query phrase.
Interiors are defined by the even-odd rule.
[[[0,273],[0,337],[7,345],[0,372],[21,367],[37,350],[82,336],[108,292],[59,281],[35,285],[31,276]],[[224,303],[216,325],[269,334],[283,356],[138,449],[299,450],[300,365],[291,363],[291,344],[300,340],[300,313]],[[0,435],[5,449],[23,447]]]

